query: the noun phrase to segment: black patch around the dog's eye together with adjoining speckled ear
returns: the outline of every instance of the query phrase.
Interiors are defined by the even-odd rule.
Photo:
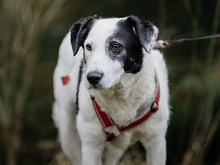
[[[121,62],[126,73],[137,73],[143,64],[144,48],[151,51],[152,38],[156,38],[154,25],[135,16],[130,16],[117,23],[116,32],[106,40],[106,52],[113,60]],[[119,45],[117,50],[112,45]]]

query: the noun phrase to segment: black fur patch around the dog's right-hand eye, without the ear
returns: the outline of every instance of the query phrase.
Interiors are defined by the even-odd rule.
[[[142,68],[142,45],[133,31],[130,21],[121,20],[117,23],[117,31],[106,40],[106,52],[113,60],[123,65],[126,73],[137,73]],[[120,44],[119,50],[112,49],[112,44]]]

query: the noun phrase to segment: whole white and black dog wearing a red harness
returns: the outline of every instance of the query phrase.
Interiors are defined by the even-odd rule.
[[[93,16],[64,38],[53,119],[74,165],[101,165],[105,146],[105,165],[115,165],[136,141],[147,150],[148,165],[166,163],[169,90],[163,56],[152,50],[157,34],[135,16]]]

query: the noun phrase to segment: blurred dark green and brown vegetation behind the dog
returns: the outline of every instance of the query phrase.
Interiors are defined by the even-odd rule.
[[[81,17],[136,15],[159,39],[220,33],[220,0],[0,0],[0,164],[70,164],[51,118],[59,45]],[[162,50],[169,71],[167,164],[220,164],[220,39]],[[121,165],[143,164],[138,143]]]

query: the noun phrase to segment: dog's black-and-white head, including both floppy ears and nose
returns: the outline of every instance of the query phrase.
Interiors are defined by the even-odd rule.
[[[74,24],[71,44],[74,55],[82,46],[88,88],[107,89],[124,73],[142,68],[143,48],[150,53],[157,28],[135,16],[102,19],[94,16]]]

